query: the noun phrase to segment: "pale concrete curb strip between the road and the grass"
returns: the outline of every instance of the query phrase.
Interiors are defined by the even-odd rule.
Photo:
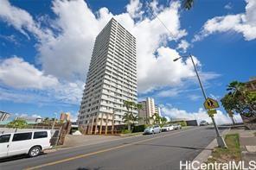
[[[230,129],[225,129],[222,133],[221,136],[227,135]],[[208,160],[208,157],[212,154],[212,151],[215,147],[218,146],[216,138],[208,144],[208,146],[202,150],[200,154],[198,154],[193,161],[198,161],[199,164],[202,164],[203,162]]]

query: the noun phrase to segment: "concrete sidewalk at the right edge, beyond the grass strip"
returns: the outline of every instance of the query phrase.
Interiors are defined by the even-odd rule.
[[[249,161],[256,160],[256,130],[232,129],[230,134],[238,133],[240,135],[240,148],[242,161],[245,161],[246,167]]]

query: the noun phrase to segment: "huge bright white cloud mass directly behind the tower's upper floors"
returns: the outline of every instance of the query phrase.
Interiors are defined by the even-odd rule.
[[[12,14],[11,9],[15,9],[14,11],[19,11],[30,18],[28,19],[30,25],[44,30],[38,27],[40,22],[33,21],[28,12],[8,4],[5,10],[10,14]],[[179,8],[180,3],[172,2],[157,13],[161,21],[170,29],[170,33],[157,18],[151,19],[144,16],[143,20],[134,21],[132,16],[140,15],[142,11],[139,1],[131,1],[127,5],[127,12],[117,16],[113,16],[108,9],[101,8],[97,12],[97,17],[82,0],[54,1],[52,9],[57,17],[52,20],[51,28],[59,30],[58,34],[52,35],[52,31],[44,30],[41,31],[42,35],[37,36],[39,42],[36,47],[42,63],[42,70],[58,79],[84,81],[95,37],[113,16],[137,37],[138,90],[150,91],[162,85],[177,84],[192,75],[191,68],[185,62],[173,64],[172,59],[178,54],[169,47],[163,47],[163,42],[178,40],[187,34],[184,29],[180,28]],[[26,30],[35,34],[34,29],[22,27],[27,23],[26,21],[20,18],[19,28],[22,28],[22,31]],[[16,21],[6,20],[6,22],[14,27],[16,25]],[[49,29],[47,28],[47,30]],[[158,52],[157,56],[155,52]],[[147,61],[147,65],[144,64],[145,61]],[[177,70],[170,74],[170,78],[165,79],[163,75],[170,73],[170,66],[176,67]],[[154,72],[156,70],[157,72]]]

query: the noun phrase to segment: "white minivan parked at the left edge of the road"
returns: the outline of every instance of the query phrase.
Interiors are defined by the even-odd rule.
[[[34,157],[50,147],[50,130],[6,133],[0,135],[0,158],[17,154]]]

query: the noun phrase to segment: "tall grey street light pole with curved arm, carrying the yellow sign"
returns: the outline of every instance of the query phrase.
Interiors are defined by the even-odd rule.
[[[202,81],[201,81],[201,79],[200,79],[200,77],[199,77],[199,74],[198,74],[198,72],[197,72],[197,70],[196,70],[195,62],[194,62],[194,60],[193,60],[193,57],[192,57],[191,54],[189,54],[189,56],[187,56],[187,57],[189,57],[189,58],[192,60],[192,63],[193,63],[194,69],[195,69],[195,73],[196,73],[196,77],[197,77],[197,79],[198,79],[199,85],[200,85],[201,90],[202,90],[203,98],[204,98],[205,100],[207,100],[206,92],[205,92],[204,89],[203,89]],[[173,61],[179,60],[179,59],[181,59],[181,58],[182,58],[182,57],[179,57],[179,58],[177,58],[177,59],[175,59],[175,60],[173,60]],[[221,137],[220,132],[219,132],[219,129],[218,129],[216,123],[215,123],[214,116],[211,116],[211,118],[212,118],[212,121],[213,121],[213,123],[214,123],[214,129],[215,129],[216,134],[217,134],[218,146],[221,147],[221,148],[227,148],[226,142],[225,142],[225,141],[223,140],[223,138]]]

